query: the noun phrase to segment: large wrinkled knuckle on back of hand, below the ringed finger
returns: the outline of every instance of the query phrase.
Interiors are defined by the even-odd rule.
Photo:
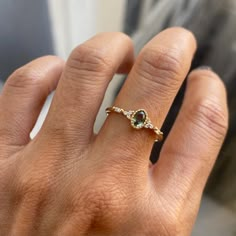
[[[86,205],[87,214],[92,215],[95,224],[106,221],[109,225],[114,225],[111,221],[122,218],[122,214],[127,210],[126,198],[120,187],[105,177],[98,177],[96,180],[91,179],[83,188],[80,187],[80,193],[72,202],[74,209],[80,209]]]

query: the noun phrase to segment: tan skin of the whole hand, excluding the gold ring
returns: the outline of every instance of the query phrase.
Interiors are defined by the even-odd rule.
[[[0,96],[1,236],[187,236],[223,143],[228,112],[219,77],[188,76],[184,102],[159,161],[149,166],[152,133],[111,114],[93,133],[115,73],[129,73],[114,105],[144,108],[161,127],[196,50],[192,33],[167,29],[134,59],[131,39],[99,34],[64,63],[30,62]],[[47,95],[56,90],[30,140]]]

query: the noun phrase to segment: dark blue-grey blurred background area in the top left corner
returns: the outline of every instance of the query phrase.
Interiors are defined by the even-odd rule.
[[[0,1],[0,79],[35,57],[53,53],[47,0]]]

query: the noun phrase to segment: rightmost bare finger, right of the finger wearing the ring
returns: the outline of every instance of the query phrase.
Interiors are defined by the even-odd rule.
[[[228,125],[226,92],[209,70],[189,76],[180,114],[166,140],[154,177],[165,199],[185,208],[198,206]]]

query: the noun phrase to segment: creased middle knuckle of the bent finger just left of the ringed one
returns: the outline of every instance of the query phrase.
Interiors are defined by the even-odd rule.
[[[68,68],[72,75],[86,76],[89,72],[89,76],[96,74],[98,77],[110,74],[112,63],[104,50],[82,44],[72,52]]]

